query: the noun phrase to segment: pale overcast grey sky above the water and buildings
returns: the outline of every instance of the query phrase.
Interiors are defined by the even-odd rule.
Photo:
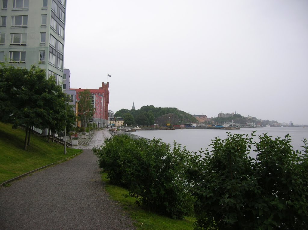
[[[67,0],[64,66],[71,88],[109,81],[113,112],[308,124],[307,0],[86,2]]]

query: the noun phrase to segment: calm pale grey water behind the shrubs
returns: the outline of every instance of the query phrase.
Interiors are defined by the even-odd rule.
[[[263,133],[268,133],[269,136],[282,137],[286,134],[290,134],[292,137],[292,146],[294,150],[302,150],[301,145],[303,145],[303,138],[308,139],[308,128],[287,128],[287,127],[277,127],[277,128],[241,128],[240,130],[219,130],[219,129],[176,129],[176,130],[137,130],[133,132],[135,135],[140,137],[145,137],[152,139],[153,137],[160,138],[164,142],[172,144],[175,140],[182,146],[186,146],[189,151],[197,152],[201,148],[208,148],[211,144],[211,140],[214,137],[219,137],[225,139],[227,137],[227,132],[230,133],[241,133],[241,134],[251,134],[253,130],[256,130],[256,137],[254,141],[258,140],[258,136]],[[255,156],[252,156],[255,157]]]

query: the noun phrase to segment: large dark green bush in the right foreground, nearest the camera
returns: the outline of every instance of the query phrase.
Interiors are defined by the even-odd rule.
[[[204,157],[193,155],[196,229],[308,229],[306,152],[295,153],[288,135],[252,136],[229,133]]]

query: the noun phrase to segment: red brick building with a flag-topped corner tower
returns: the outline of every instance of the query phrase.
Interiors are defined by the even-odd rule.
[[[76,90],[77,100],[79,101],[79,92],[83,92],[85,89],[73,89]],[[107,125],[108,122],[108,104],[109,104],[109,82],[106,84],[103,82],[102,87],[98,89],[89,89],[92,95],[92,105],[95,108],[93,115],[93,121],[99,126]]]

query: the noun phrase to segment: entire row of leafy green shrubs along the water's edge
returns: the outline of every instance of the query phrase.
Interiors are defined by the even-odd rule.
[[[182,218],[195,229],[308,229],[308,146],[284,139],[230,134],[209,151],[188,152],[161,140],[116,136],[94,149],[108,179],[150,210]],[[256,159],[249,157],[257,152]]]

